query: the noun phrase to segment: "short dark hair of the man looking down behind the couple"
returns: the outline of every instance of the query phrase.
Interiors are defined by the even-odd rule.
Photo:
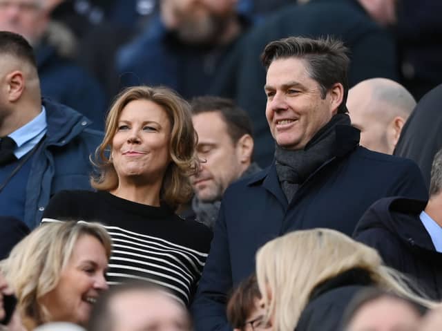
[[[245,134],[252,136],[249,115],[230,99],[212,96],[195,97],[191,100],[191,107],[192,115],[209,112],[220,113],[233,144],[236,144]]]

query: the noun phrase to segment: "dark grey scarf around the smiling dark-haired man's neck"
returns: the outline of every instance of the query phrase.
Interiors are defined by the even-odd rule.
[[[336,150],[336,126],[351,125],[348,115],[336,114],[305,145],[304,149],[282,149],[276,145],[276,173],[287,201],[294,197],[311,173],[334,156]]]

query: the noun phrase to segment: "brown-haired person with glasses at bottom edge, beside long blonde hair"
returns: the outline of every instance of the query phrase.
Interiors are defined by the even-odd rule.
[[[227,319],[233,331],[271,330],[271,325],[265,323],[265,310],[260,299],[258,281],[252,274],[236,287],[227,303]]]

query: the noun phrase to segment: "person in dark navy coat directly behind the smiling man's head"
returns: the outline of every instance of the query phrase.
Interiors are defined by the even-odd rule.
[[[371,12],[381,2],[372,1],[370,10],[356,0],[311,0],[287,6],[251,28],[225,60],[209,93],[236,100],[249,113],[255,131],[256,162],[261,167],[271,163],[274,151],[267,122],[262,117],[266,107],[266,95],[261,92],[266,84],[266,70],[260,64],[262,49],[272,40],[289,36],[329,35],[341,39],[350,50],[349,86],[371,77],[396,79],[394,39],[376,23]]]

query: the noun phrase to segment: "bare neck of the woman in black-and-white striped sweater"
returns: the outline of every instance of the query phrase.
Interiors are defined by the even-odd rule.
[[[161,185],[134,185],[133,183],[119,182],[116,189],[110,193],[118,198],[154,207],[160,207]]]

